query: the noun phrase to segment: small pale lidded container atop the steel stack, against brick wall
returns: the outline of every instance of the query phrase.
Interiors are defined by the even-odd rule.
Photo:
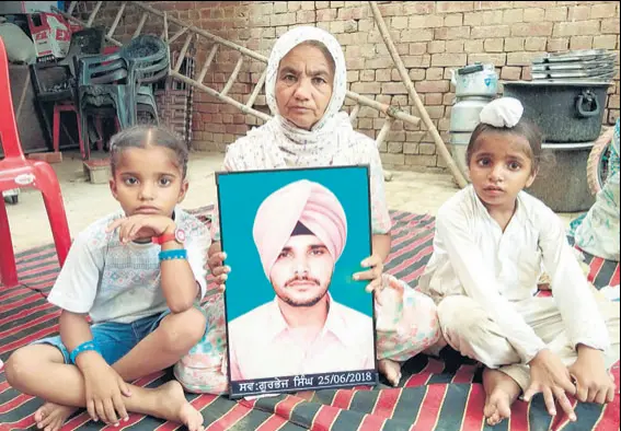
[[[498,92],[498,74],[494,65],[474,63],[451,70],[450,80],[455,85],[456,97],[495,97]]]

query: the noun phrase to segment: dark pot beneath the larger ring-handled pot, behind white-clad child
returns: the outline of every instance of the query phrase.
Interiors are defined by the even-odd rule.
[[[595,203],[586,175],[593,145],[594,142],[544,143],[540,173],[526,191],[556,212],[587,211]]]

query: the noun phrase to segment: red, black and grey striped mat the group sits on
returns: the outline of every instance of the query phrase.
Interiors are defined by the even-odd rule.
[[[210,208],[194,213],[209,223]],[[393,212],[393,252],[388,270],[413,287],[432,253],[434,218],[427,214]],[[619,283],[616,263],[587,256],[589,278],[598,287]],[[58,273],[53,246],[18,255],[21,286],[5,290],[0,286],[0,359],[37,338],[57,333],[59,312],[46,302]],[[214,286],[211,284],[214,288]],[[619,384],[619,366],[613,370]],[[137,384],[154,387],[171,378],[170,371],[141,378]],[[384,382],[386,383],[386,382]],[[485,394],[480,371],[463,358],[442,361],[418,356],[403,366],[399,388],[383,383],[379,387],[358,387],[342,391],[321,391],[283,395],[253,401],[231,401],[226,397],[187,395],[205,418],[209,431],[220,430],[492,430],[485,424]],[[0,371],[0,430],[27,430],[33,426],[33,412],[41,400],[11,388]],[[578,422],[571,423],[559,416],[552,420],[538,396],[530,404],[517,401],[510,421],[493,430],[619,430],[619,395],[614,403],[602,408],[579,405]],[[561,409],[559,409],[561,411]],[[100,430],[84,412],[71,418],[64,430]],[[131,415],[123,429],[174,430],[174,423]],[[110,429],[115,429],[110,427]]]

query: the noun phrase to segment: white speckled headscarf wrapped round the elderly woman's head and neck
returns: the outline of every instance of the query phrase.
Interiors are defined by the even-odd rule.
[[[278,113],[276,104],[276,80],[280,60],[303,42],[322,43],[334,60],[334,83],[332,97],[323,117],[311,130],[300,129]],[[249,137],[261,136],[272,139],[283,151],[286,162],[295,166],[325,165],[341,149],[354,144],[355,132],[347,113],[341,112],[347,91],[345,56],[338,40],[330,33],[312,26],[295,27],[278,38],[269,60],[265,78],[267,105],[274,117],[264,126],[249,131]],[[257,136],[257,137],[258,137]],[[358,137],[359,139],[359,137]]]

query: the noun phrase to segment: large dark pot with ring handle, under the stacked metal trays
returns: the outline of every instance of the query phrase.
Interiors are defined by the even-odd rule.
[[[524,116],[533,120],[545,142],[595,141],[601,131],[608,82],[515,81],[504,95],[519,100]]]

